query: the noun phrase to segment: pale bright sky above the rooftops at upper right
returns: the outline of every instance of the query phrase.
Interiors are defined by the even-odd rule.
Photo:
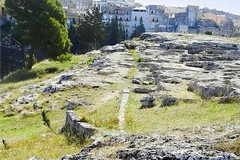
[[[240,0],[135,0],[143,5],[165,5],[186,7],[187,5],[198,5],[200,8],[210,8],[240,15]]]

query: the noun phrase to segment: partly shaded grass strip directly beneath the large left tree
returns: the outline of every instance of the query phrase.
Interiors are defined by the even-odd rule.
[[[50,78],[59,72],[69,69],[78,62],[84,61],[86,57],[86,55],[73,56],[71,61],[64,63],[44,60],[35,64],[32,70],[13,72],[0,81],[0,94]]]

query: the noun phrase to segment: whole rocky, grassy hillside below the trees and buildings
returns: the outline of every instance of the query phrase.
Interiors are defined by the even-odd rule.
[[[1,158],[60,159],[94,139],[102,146],[82,155],[124,159],[146,152],[152,158],[151,149],[161,147],[172,154],[179,148],[240,155],[238,47],[221,37],[146,33],[70,62],[43,61],[14,72],[0,82]],[[154,105],[145,106],[149,99]],[[43,125],[45,110],[58,133],[66,109],[97,127],[96,135],[77,143]],[[210,151],[196,149],[204,146]]]

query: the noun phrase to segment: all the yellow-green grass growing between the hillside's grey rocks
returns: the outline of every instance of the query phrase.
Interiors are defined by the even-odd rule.
[[[134,52],[133,58],[135,61],[139,59]],[[84,59],[84,57],[74,57],[71,63],[64,65],[45,61],[42,62],[42,64],[34,66],[33,70],[45,70],[55,65],[59,68],[59,71],[65,70],[82,59]],[[41,98],[44,99],[44,101],[57,99],[56,107],[59,109],[63,106],[63,103],[65,103],[65,99],[63,98],[69,98],[72,93],[74,93],[77,95],[74,98],[85,98],[93,104],[77,110],[77,113],[81,117],[97,127],[107,130],[117,130],[117,116],[121,102],[121,94],[118,93],[110,97],[106,102],[102,102],[101,105],[95,104],[98,104],[100,100],[99,97],[111,93],[110,91],[121,91],[123,86],[124,88],[127,86],[130,87],[130,80],[137,72],[136,66],[137,65],[130,69],[126,84],[113,84],[108,88],[100,88],[97,90],[74,88],[53,94],[51,97],[43,95]],[[12,83],[11,78],[6,78],[0,82],[0,93],[12,88],[19,88],[29,83],[40,82],[51,76],[53,76],[53,74],[46,74],[40,78],[15,83]],[[2,84],[4,86],[2,86]],[[131,93],[126,106],[125,130],[129,133],[167,132],[173,128],[193,128],[211,124],[224,125],[240,122],[240,109],[237,103],[220,105],[216,102],[200,100],[192,104],[181,102],[178,106],[168,108],[160,108],[158,104],[158,106],[152,109],[141,110],[139,109],[141,105],[139,102],[140,98],[142,98],[142,95]],[[48,106],[48,104],[44,105],[45,107]],[[64,116],[64,111],[52,111],[50,113],[50,119],[52,120],[52,125],[55,130],[63,126]],[[40,115],[24,119],[18,116],[3,118],[3,115],[0,115],[0,138],[4,138],[10,146],[9,150],[5,150],[3,145],[0,145],[0,155],[4,155],[3,159],[26,159],[33,155],[45,159],[54,159],[66,154],[76,153],[80,150],[79,146],[69,146],[63,136],[53,135],[48,128],[42,125]],[[239,143],[235,142],[231,145],[233,146],[232,148],[234,148],[234,146],[239,145]],[[225,146],[230,146],[230,144]],[[231,148],[223,149],[230,150]]]

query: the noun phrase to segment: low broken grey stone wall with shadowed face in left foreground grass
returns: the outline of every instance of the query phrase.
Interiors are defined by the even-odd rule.
[[[96,128],[86,122],[82,122],[81,119],[75,115],[74,111],[67,111],[64,131],[82,138],[92,136]]]

